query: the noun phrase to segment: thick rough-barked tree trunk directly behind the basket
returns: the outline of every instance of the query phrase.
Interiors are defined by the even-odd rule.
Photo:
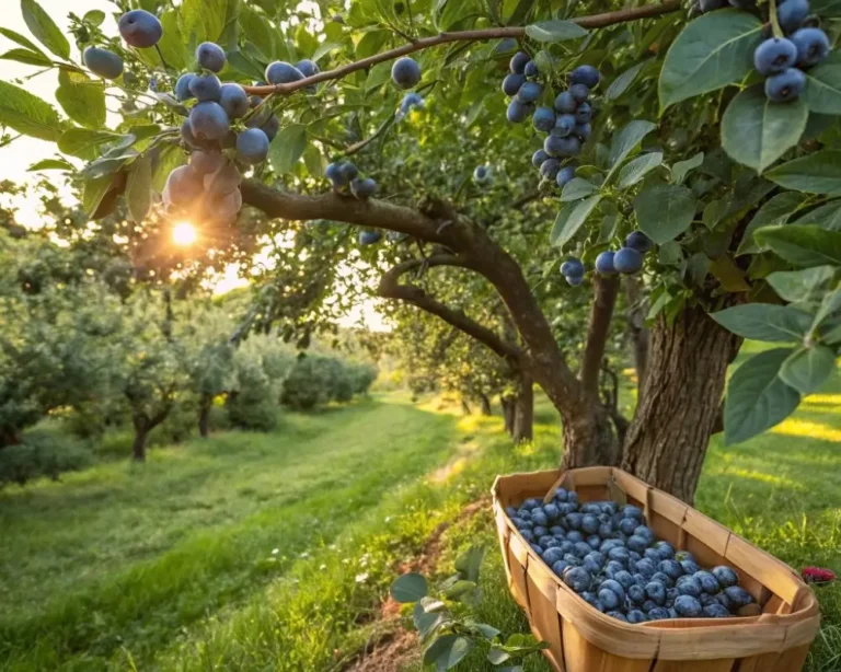
[[[718,417],[727,366],[741,339],[699,306],[652,333],[642,399],[627,432],[622,467],[692,503]]]

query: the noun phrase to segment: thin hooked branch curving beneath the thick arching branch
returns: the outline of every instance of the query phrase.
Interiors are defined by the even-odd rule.
[[[411,303],[419,308],[420,310],[437,315],[443,320],[447,324],[454,326],[456,328],[464,332],[469,336],[472,336],[480,343],[487,346],[491,350],[496,352],[499,357],[509,361],[517,361],[521,357],[520,350],[505,343],[499,336],[485,326],[482,326],[474,320],[468,317],[462,311],[454,311],[447,308],[440,301],[433,299],[419,287],[413,285],[402,285],[400,282],[401,276],[420,267],[422,265],[427,267],[435,266],[460,266],[464,267],[464,263],[453,255],[435,255],[428,259],[408,259],[398,264],[385,273],[380,279],[380,287],[378,294],[383,299],[400,299],[406,303]]]

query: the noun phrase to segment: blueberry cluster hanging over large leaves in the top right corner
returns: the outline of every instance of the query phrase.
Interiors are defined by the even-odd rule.
[[[776,19],[785,37],[771,37],[757,47],[753,66],[765,77],[765,95],[775,103],[797,100],[806,86],[804,70],[817,66],[830,51],[827,34],[809,21],[808,0],[785,0]]]

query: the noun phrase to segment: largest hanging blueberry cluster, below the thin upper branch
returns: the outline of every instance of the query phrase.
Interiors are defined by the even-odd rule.
[[[555,96],[552,107],[538,105],[543,96],[539,77],[538,66],[528,54],[514,55],[510,73],[503,80],[503,92],[511,97],[507,116],[512,124],[519,124],[531,115],[534,129],[548,134],[543,149],[534,152],[531,162],[542,177],[563,187],[575,176],[575,164],[568,160],[581,152],[581,144],[592,132],[588,99],[601,76],[592,66],[577,67],[569,74],[569,89]]]

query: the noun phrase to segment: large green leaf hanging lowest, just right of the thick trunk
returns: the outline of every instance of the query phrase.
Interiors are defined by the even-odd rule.
[[[800,395],[777,375],[791,352],[790,348],[765,350],[751,357],[733,374],[724,402],[727,445],[770,429],[797,408]]]

